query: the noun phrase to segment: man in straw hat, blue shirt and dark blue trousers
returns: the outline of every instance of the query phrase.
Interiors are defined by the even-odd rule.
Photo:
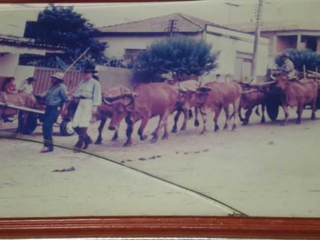
[[[46,110],[44,113],[44,121],[42,124],[42,132],[44,139],[44,147],[41,152],[53,151],[52,132],[53,124],[57,120],[59,108],[64,105],[67,100],[68,90],[63,84],[64,74],[55,73],[51,76],[51,87],[41,96],[45,96]]]

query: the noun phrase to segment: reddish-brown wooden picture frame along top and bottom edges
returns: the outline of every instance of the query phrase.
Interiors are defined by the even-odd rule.
[[[0,3],[44,2],[86,2],[86,0],[0,0]],[[95,2],[119,2],[119,0],[95,0]],[[320,218],[243,216],[1,218],[0,213],[0,239],[107,237],[319,239]]]

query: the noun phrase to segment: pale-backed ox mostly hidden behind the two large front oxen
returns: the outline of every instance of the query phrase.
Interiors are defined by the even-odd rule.
[[[188,90],[196,90],[197,88],[200,87],[200,83],[195,81],[195,80],[187,80],[187,81],[182,81],[182,82],[173,82],[170,83],[171,85],[173,85],[174,87],[177,88],[177,90],[179,91],[179,102],[177,104],[177,114],[174,117],[174,125],[172,127],[172,133],[176,133],[177,132],[177,122],[179,120],[179,117],[181,115],[181,113],[184,113],[184,121],[183,124],[181,126],[181,131],[186,130],[187,128],[187,120],[192,118],[192,110],[189,110],[189,114],[188,111],[185,111],[182,109],[182,105],[181,105],[181,98],[183,97],[183,94],[188,91]],[[188,116],[189,115],[189,116]],[[197,127],[199,126],[199,120],[198,120],[198,108],[194,107],[194,125]]]

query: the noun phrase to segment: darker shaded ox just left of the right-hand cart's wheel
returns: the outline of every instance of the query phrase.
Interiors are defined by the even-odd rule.
[[[267,94],[264,89],[253,89],[249,84],[239,83],[242,87],[242,94],[239,106],[239,118],[242,121],[242,125],[248,125],[252,110],[256,107],[256,114],[259,115],[258,106],[261,104],[262,117],[261,122],[265,122],[264,111],[267,100]],[[247,110],[245,118],[241,116],[241,108]],[[234,114],[234,113],[233,113]],[[233,116],[232,114],[232,116]],[[232,117],[231,116],[231,117]],[[230,118],[231,118],[230,117]]]

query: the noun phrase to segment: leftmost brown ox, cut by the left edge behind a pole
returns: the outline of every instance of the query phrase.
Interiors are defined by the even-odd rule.
[[[32,108],[36,100],[33,95],[26,94],[26,93],[16,93],[16,94],[0,94],[0,102],[2,103],[11,103],[16,106],[21,107],[28,107]],[[18,110],[14,108],[9,108],[6,106],[0,106],[0,120],[2,120],[4,117],[13,117],[18,114]],[[16,130],[17,133],[23,133],[24,128],[27,125],[27,118],[28,118],[29,112],[23,111],[23,121],[19,122],[18,128]]]

